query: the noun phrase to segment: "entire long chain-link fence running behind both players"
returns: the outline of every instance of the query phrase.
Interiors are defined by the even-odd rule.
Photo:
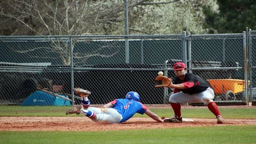
[[[172,89],[155,88],[154,79],[158,71],[174,77],[172,65],[177,61],[187,62],[189,73],[210,83],[217,92],[216,102],[247,100],[243,34],[5,36],[0,40],[1,104],[23,105],[33,94],[33,102],[45,105],[57,98],[78,104],[74,87],[90,90],[92,104],[124,98],[129,91],[137,91],[144,104],[167,104]],[[215,85],[210,80],[223,82]]]

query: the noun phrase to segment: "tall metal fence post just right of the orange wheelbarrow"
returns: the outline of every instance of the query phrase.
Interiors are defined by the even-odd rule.
[[[251,106],[251,103],[249,101],[249,97],[248,97],[248,77],[247,77],[247,49],[246,49],[246,32],[243,32],[243,50],[244,50],[244,95],[245,95],[245,99],[246,99],[246,104],[247,106]]]

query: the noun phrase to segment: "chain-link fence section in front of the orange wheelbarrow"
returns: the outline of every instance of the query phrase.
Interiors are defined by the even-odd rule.
[[[194,35],[190,37],[190,41],[193,73],[209,82],[215,90],[216,101],[243,101],[245,97],[243,97],[244,76],[241,67],[243,66],[242,34]],[[211,62],[215,66],[211,66],[210,69],[197,69],[197,67],[209,67],[209,64],[202,65],[205,62]]]

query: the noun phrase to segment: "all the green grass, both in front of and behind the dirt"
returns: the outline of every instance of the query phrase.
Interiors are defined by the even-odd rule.
[[[65,112],[70,108],[72,107],[0,106],[0,120],[1,116],[67,116]],[[151,110],[159,116],[173,115],[172,108]],[[220,111],[225,118],[256,119],[256,108],[220,108]],[[207,107],[182,108],[182,114],[185,118],[214,118]],[[145,114],[135,114],[134,116],[147,117]],[[255,133],[255,125],[98,132],[0,131],[0,143],[256,143]]]

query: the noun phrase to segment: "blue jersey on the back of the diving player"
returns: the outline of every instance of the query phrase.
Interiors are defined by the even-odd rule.
[[[122,115],[123,118],[120,123],[127,121],[135,113],[144,114],[147,110],[147,107],[145,107],[142,103],[134,100],[116,99],[110,103],[113,104],[113,108]]]

